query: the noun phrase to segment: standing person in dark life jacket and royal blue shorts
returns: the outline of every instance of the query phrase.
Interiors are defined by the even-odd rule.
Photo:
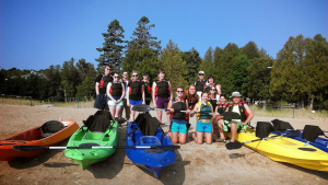
[[[133,105],[144,104],[144,89],[143,83],[139,80],[138,71],[132,71],[132,79],[128,84],[127,101],[128,106],[131,107],[131,118],[134,120],[136,112],[132,111]]]

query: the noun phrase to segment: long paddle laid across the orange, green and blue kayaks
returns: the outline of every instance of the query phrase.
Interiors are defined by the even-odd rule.
[[[92,146],[86,144],[83,147],[46,147],[46,146],[13,146],[15,151],[35,151],[43,149],[162,149],[162,150],[177,150],[180,146],[137,146],[137,147],[126,147],[126,146]]]

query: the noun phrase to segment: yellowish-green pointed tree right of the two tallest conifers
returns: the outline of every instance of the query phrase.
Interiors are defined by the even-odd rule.
[[[184,89],[188,86],[184,78],[188,72],[185,67],[186,61],[183,60],[179,53],[178,46],[169,41],[161,55],[161,69],[165,71],[165,78],[169,80],[173,92],[177,85],[181,85]]]

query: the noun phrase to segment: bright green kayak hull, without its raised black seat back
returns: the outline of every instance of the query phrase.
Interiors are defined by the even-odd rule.
[[[81,144],[96,144],[101,147],[117,146],[118,124],[113,122],[113,127],[108,127],[104,132],[84,131],[83,126],[73,134],[67,147],[79,147]],[[72,159],[82,170],[89,165],[106,160],[116,149],[66,149],[65,155]]]

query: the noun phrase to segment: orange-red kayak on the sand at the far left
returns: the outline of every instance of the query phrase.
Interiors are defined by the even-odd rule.
[[[55,146],[79,129],[74,120],[49,120],[40,126],[24,130],[0,140],[0,161],[31,158],[46,150],[16,151],[13,146]]]

